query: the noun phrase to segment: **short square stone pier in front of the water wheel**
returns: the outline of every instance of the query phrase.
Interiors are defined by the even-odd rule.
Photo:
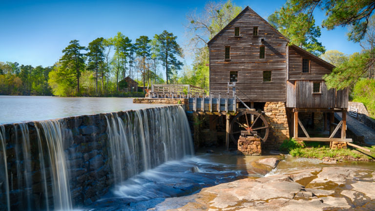
[[[260,138],[241,136],[240,139],[238,139],[238,151],[243,155],[261,155],[261,143]]]

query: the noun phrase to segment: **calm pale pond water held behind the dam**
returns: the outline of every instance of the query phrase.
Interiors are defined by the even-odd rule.
[[[132,98],[0,96],[0,125],[158,106]]]

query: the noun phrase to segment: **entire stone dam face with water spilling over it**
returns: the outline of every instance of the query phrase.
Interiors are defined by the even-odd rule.
[[[193,154],[183,106],[0,126],[0,210],[89,205],[147,169]]]

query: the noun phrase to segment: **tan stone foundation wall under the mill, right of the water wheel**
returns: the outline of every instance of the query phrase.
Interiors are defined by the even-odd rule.
[[[270,133],[264,148],[279,149],[284,140],[289,139],[289,126],[284,102],[266,102],[264,105]]]

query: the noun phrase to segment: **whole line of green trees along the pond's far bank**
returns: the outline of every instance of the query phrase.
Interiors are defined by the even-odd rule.
[[[176,83],[183,63],[177,37],[163,31],[151,40],[140,36],[132,42],[118,32],[108,39],[97,38],[82,46],[72,40],[62,57],[50,67],[0,63],[0,94],[57,96],[142,96],[130,88],[130,77],[139,86]],[[163,67],[166,80],[159,71]]]

